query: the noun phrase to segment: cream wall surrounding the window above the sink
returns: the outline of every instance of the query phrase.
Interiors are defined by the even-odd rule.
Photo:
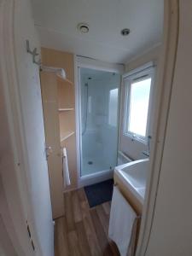
[[[156,99],[156,94],[155,94],[155,85],[157,84],[157,78],[158,78],[158,72],[159,72],[159,56],[160,56],[160,50],[161,47],[155,47],[154,49],[151,49],[150,51],[146,52],[143,55],[137,56],[135,59],[127,62],[126,67],[125,67],[125,72],[128,73],[131,70],[142,66],[143,64],[149,62],[149,61],[154,61],[155,67],[155,77],[154,77],[154,88],[153,88],[153,99],[152,99],[152,112],[151,116],[152,118],[150,119],[150,124],[149,124],[149,135],[152,136],[153,139],[153,106],[155,104],[155,99]],[[122,90],[122,100],[124,99],[125,96],[125,91]],[[122,101],[123,103],[124,101]],[[123,117],[123,106],[122,104],[122,115],[120,118],[120,123],[121,123],[121,129],[120,129],[120,137],[119,137],[119,149],[130,156],[133,160],[138,160],[138,159],[143,159],[146,158],[146,156],[143,154],[143,151],[148,151],[148,147],[146,144],[138,142],[137,140],[132,141],[131,137],[127,137],[123,135],[123,122],[124,122],[124,117]]]

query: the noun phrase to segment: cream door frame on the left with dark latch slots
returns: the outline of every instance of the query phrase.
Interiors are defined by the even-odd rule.
[[[0,162],[0,214],[16,255],[42,255],[34,225],[30,184],[27,171],[25,128],[21,116],[18,67],[15,49],[15,10],[18,1],[0,3],[0,99],[1,136],[4,153]],[[3,139],[2,139],[3,141]],[[6,172],[5,172],[6,171]],[[27,230],[30,228],[32,240]],[[35,250],[32,249],[32,241]]]

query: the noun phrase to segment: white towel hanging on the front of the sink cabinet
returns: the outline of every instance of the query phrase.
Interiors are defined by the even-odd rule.
[[[121,256],[133,256],[138,217],[118,187],[113,187],[108,236],[119,248]]]

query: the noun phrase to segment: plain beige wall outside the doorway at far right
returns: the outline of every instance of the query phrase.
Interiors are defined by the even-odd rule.
[[[180,0],[179,40],[148,256],[192,255],[192,2]]]

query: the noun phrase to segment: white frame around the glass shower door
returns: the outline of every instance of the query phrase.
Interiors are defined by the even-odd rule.
[[[113,177],[113,171],[95,172],[89,175],[81,176],[81,152],[82,152],[82,138],[81,138],[81,94],[80,94],[80,68],[95,69],[98,71],[114,72],[122,75],[125,67],[122,64],[112,64],[104,61],[97,61],[87,57],[75,55],[74,56],[74,73],[75,73],[75,113],[76,113],[76,149],[77,149],[77,175],[78,187],[83,187],[93,183],[102,182],[108,178]],[[119,89],[121,83],[119,84]],[[120,96],[120,92],[119,92]],[[119,110],[118,110],[119,111]],[[119,134],[119,127],[118,127]]]

